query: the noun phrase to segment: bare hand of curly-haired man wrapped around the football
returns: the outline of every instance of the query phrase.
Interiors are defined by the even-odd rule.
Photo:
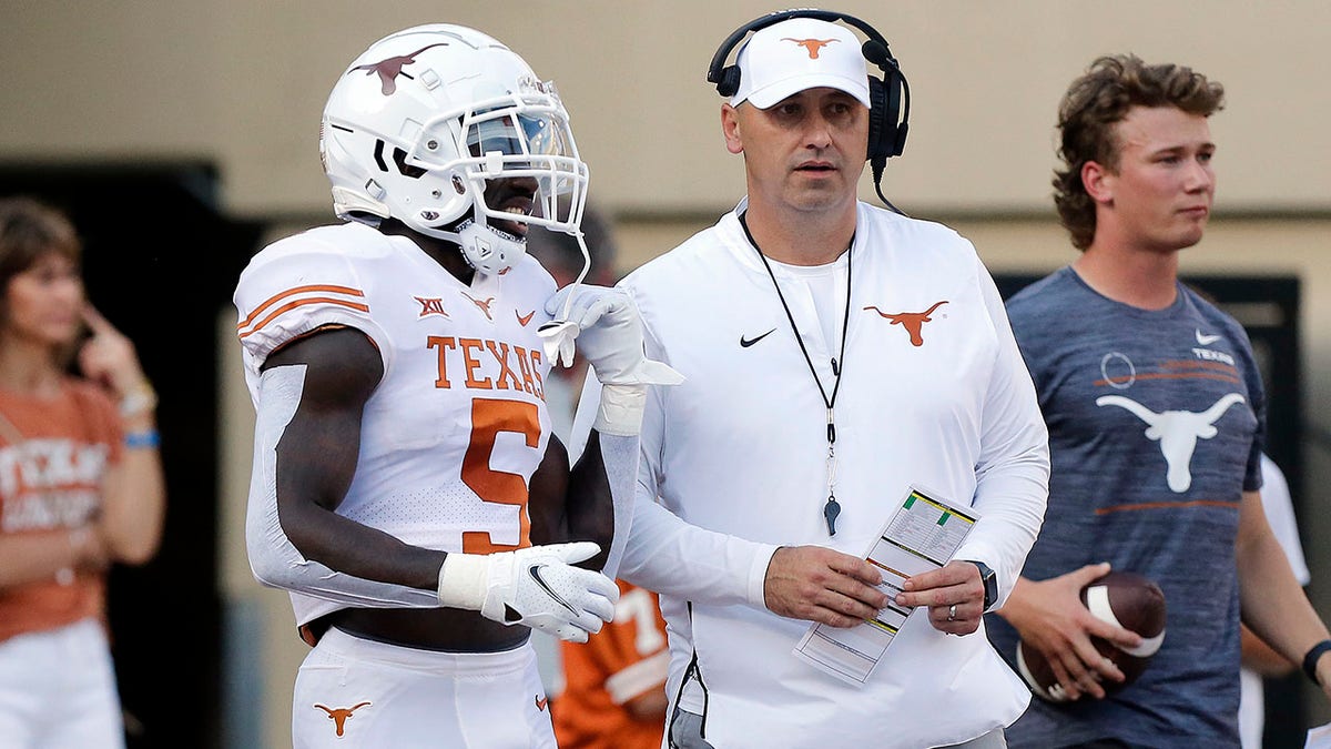
[[[998,614],[1021,636],[1022,648],[1038,650],[1049,661],[1058,684],[1067,697],[1083,694],[1101,700],[1105,678],[1123,681],[1123,672],[1099,654],[1091,637],[1102,637],[1123,648],[1137,648],[1142,638],[1135,632],[1099,618],[1081,602],[1081,589],[1109,572],[1109,564],[1091,564],[1044,581],[1017,581]]]

